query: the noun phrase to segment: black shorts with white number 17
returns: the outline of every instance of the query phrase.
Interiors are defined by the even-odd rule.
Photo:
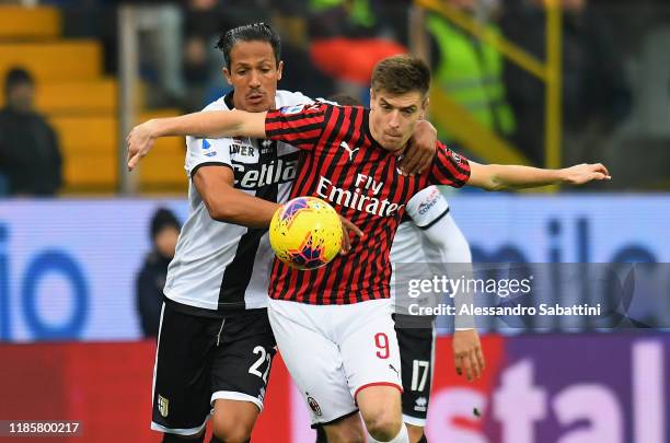
[[[394,319],[401,352],[404,421],[425,427],[435,362],[435,320],[398,314]]]

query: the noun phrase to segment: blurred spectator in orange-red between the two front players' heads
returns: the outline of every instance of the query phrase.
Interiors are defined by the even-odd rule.
[[[308,0],[310,56],[335,88],[355,96],[368,89],[374,65],[407,53],[380,20],[383,2],[374,0]]]

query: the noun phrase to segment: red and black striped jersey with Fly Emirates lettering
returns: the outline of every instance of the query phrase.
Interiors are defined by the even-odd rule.
[[[467,160],[439,142],[429,171],[403,176],[401,158],[372,138],[369,113],[314,103],[267,114],[267,138],[302,150],[291,198],[322,198],[365,233],[353,238],[348,255],[315,270],[296,270],[275,259],[273,299],[349,304],[389,298],[390,250],[407,201],[430,184],[461,187],[470,178]]]

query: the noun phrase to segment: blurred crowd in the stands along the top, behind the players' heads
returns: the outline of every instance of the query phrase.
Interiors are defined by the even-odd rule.
[[[546,0],[441,0],[487,32],[546,59]],[[106,70],[117,69],[119,0],[51,0],[66,34],[95,36]],[[367,103],[374,63],[408,51],[411,0],[132,1],[141,35],[149,105],[197,110],[229,85],[215,49],[226,30],[264,21],[279,32],[286,70],[280,88],[313,97],[347,93]],[[634,4],[633,4],[634,3]],[[670,162],[670,7],[660,0],[561,0],[563,15],[563,163],[603,161],[631,172],[637,147],[652,152],[659,188]],[[427,13],[426,56],[435,84],[535,165],[544,163],[545,85],[443,16]],[[432,109],[438,112],[437,109]],[[449,139],[448,133],[441,133]],[[449,141],[449,140],[448,140]],[[1,147],[1,145],[0,145]],[[635,152],[632,152],[635,151]],[[0,155],[3,155],[0,153]],[[623,161],[622,159],[625,159]],[[0,167],[5,167],[4,156]],[[640,166],[642,167],[642,166]],[[615,175],[613,174],[613,175]],[[656,175],[655,175],[656,174]],[[661,185],[661,186],[667,186]],[[625,186],[622,186],[625,187]]]

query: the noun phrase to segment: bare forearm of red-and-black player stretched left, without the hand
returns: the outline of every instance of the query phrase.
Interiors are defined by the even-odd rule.
[[[195,136],[201,138],[254,137],[265,138],[259,118],[241,110],[211,110],[186,114],[178,117],[150,120],[153,137]]]

